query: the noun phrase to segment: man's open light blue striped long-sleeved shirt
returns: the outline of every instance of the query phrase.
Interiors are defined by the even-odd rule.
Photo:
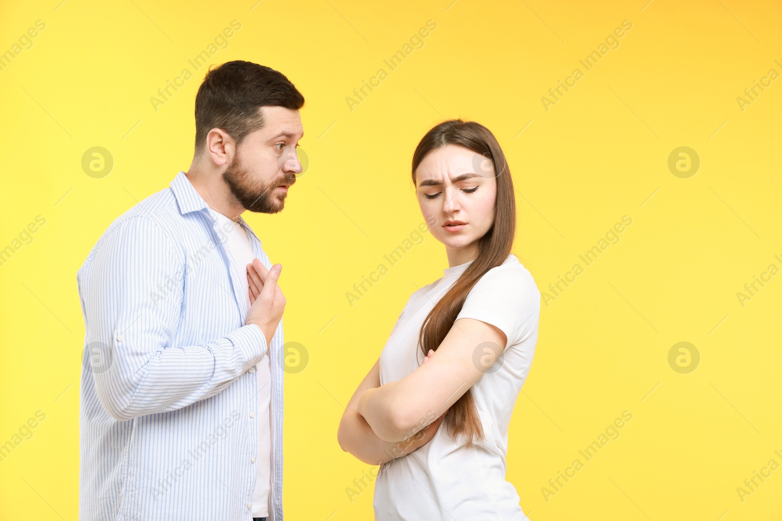
[[[253,252],[271,269],[244,219]],[[252,519],[267,344],[246,273],[184,172],[114,220],[77,273],[79,519]],[[282,521],[282,319],[271,359],[269,521]]]

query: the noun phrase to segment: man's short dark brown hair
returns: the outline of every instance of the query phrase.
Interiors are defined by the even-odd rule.
[[[224,130],[238,146],[266,124],[260,107],[299,110],[303,105],[304,96],[270,67],[242,60],[210,66],[195,95],[195,156],[202,154],[213,128]]]

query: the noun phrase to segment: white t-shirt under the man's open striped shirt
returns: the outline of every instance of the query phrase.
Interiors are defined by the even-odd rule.
[[[249,288],[247,287],[247,265],[253,262],[255,254],[253,247],[249,244],[247,234],[242,225],[235,223],[220,212],[211,210],[212,215],[217,217],[217,224],[224,233],[225,247],[234,259],[237,271],[239,271],[239,280],[242,287],[245,288],[245,298],[247,309],[249,309]],[[256,466],[257,480],[253,488],[253,507],[251,512],[253,517],[266,517],[268,512],[269,493],[271,491],[271,411],[269,403],[271,401],[271,366],[269,365],[268,355],[264,355],[250,372],[256,370],[258,373],[258,410],[256,418],[258,421],[258,453],[254,458],[253,465]],[[253,461],[251,459],[251,461]]]

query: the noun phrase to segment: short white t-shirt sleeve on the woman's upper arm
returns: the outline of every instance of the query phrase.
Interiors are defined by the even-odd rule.
[[[535,332],[539,317],[540,291],[529,271],[497,266],[475,283],[456,319],[477,319],[498,327],[508,337],[504,346],[508,348]]]

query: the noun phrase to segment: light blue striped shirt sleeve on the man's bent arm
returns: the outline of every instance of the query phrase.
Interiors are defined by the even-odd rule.
[[[210,398],[267,352],[256,325],[203,344],[174,344],[184,302],[184,249],[147,216],[106,232],[82,302],[86,341],[102,351],[95,389],[119,420],[168,412]]]

